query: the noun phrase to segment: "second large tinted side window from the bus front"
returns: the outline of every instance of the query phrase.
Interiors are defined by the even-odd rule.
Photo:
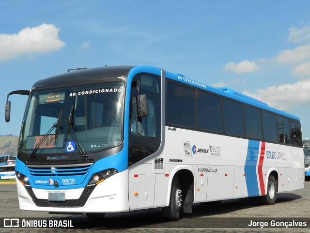
[[[219,97],[196,91],[198,126],[202,130],[222,133],[222,112]]]

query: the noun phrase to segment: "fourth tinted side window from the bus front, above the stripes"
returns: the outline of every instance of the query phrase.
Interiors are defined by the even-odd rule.
[[[244,107],[244,117],[247,137],[263,139],[260,110],[246,105]]]

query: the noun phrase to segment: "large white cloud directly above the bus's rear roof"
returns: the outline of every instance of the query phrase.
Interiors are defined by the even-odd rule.
[[[310,105],[310,80],[279,86],[273,85],[265,89],[256,90],[255,93],[249,91],[243,93],[266,102],[271,107],[289,110],[297,105]]]

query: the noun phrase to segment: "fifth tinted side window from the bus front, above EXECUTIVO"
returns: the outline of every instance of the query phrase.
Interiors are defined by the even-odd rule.
[[[278,142],[276,116],[262,111],[263,137],[266,141]]]

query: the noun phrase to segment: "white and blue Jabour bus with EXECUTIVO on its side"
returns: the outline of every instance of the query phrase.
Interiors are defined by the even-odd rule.
[[[81,69],[30,91],[16,159],[20,209],[162,208],[302,189],[300,119],[229,88],[157,67]]]

